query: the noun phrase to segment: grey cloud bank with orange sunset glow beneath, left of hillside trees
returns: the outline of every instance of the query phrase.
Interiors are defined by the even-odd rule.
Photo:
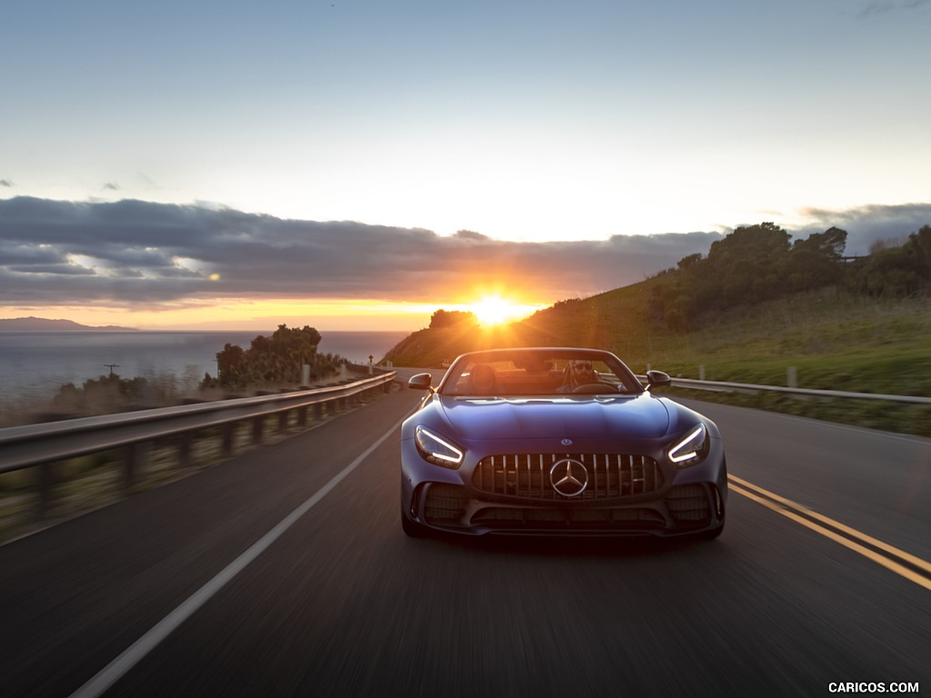
[[[624,286],[718,237],[519,243],[139,201],[17,198],[0,200],[0,301],[7,316],[55,309],[95,325],[261,327],[313,317],[329,329],[419,329],[439,307],[468,310],[497,297],[529,314]]]

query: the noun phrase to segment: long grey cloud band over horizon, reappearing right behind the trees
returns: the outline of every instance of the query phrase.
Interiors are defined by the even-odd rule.
[[[807,209],[850,254],[931,222],[931,204]],[[0,304],[152,307],[224,299],[450,303],[479,289],[555,302],[641,281],[707,253],[720,232],[506,242],[474,231],[292,221],[145,201],[0,199]]]

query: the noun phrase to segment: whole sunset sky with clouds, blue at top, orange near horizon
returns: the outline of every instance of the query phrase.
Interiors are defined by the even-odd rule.
[[[931,223],[929,29],[931,0],[18,3],[0,316],[419,329],[762,221],[865,253]]]

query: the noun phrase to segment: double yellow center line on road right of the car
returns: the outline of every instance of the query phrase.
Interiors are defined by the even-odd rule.
[[[763,490],[762,487],[740,477],[728,475],[727,479],[731,491],[742,494],[767,509],[772,509],[777,514],[788,517],[805,528],[814,530],[835,543],[850,548],[863,557],[869,557],[870,560],[887,570],[892,570],[899,576],[931,591],[931,563],[921,557],[915,557],[904,550],[872,538],[866,533],[844,526],[840,521],[818,514],[802,504],[780,497],[769,490]]]

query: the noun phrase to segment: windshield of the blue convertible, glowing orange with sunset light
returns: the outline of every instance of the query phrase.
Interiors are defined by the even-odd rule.
[[[499,350],[460,356],[439,387],[448,396],[637,395],[641,383],[607,352]]]

